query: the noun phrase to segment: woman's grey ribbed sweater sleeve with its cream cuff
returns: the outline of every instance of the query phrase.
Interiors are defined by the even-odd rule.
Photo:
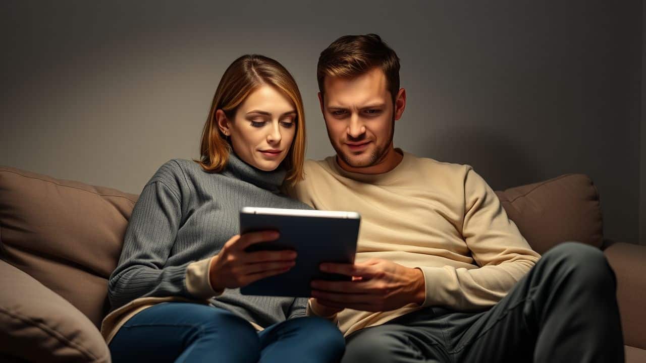
[[[178,185],[173,185],[172,178],[153,177],[132,210],[119,264],[110,275],[108,297],[112,309],[144,296],[218,295],[209,284],[209,260],[165,265],[181,220]]]

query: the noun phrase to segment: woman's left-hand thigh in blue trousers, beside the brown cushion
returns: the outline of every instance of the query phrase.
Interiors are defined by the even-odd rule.
[[[133,316],[110,342],[112,361],[258,362],[260,341],[243,318],[213,306],[165,302]]]

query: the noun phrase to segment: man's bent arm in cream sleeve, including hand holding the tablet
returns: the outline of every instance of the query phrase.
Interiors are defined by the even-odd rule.
[[[377,258],[355,265],[324,264],[328,268],[323,271],[359,280],[313,282],[318,304],[363,311],[388,311],[411,303],[473,310],[503,298],[540,256],[508,219],[485,180],[466,168],[462,234],[480,267],[412,269]]]

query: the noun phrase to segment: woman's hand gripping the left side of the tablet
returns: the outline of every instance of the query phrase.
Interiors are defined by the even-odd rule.
[[[249,285],[256,280],[278,275],[295,265],[296,251],[246,252],[250,245],[273,241],[276,231],[236,234],[224,244],[220,253],[213,256],[209,280],[215,291]]]

